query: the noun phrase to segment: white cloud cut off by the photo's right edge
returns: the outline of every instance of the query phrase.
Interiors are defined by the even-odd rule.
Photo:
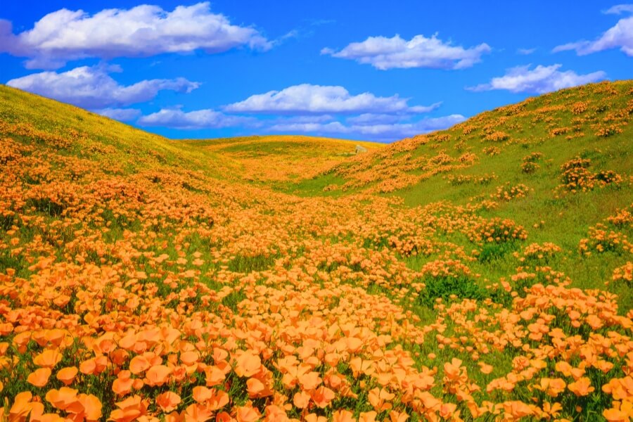
[[[633,4],[619,4],[613,6],[604,13],[620,14],[633,13]],[[598,51],[620,49],[627,56],[633,56],[633,16],[618,20],[615,26],[610,27],[594,41],[576,41],[563,44],[554,48],[558,51],[576,51],[578,56],[596,53]]]

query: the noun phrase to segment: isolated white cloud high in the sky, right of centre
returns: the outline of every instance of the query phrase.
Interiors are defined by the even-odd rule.
[[[490,51],[490,46],[485,43],[464,49],[462,46],[452,45],[450,41],[442,41],[434,34],[430,38],[416,35],[409,41],[399,35],[392,38],[369,37],[362,42],[353,42],[340,51],[323,49],[321,54],[356,60],[380,70],[463,69],[480,62],[481,56]]]

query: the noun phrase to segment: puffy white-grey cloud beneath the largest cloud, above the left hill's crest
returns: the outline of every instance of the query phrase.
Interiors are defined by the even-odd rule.
[[[149,101],[162,90],[191,92],[199,87],[197,82],[190,82],[181,77],[149,79],[123,86],[110,77],[108,72],[120,72],[120,68],[82,66],[62,73],[34,73],[11,79],[6,84],[82,108],[127,106]]]

